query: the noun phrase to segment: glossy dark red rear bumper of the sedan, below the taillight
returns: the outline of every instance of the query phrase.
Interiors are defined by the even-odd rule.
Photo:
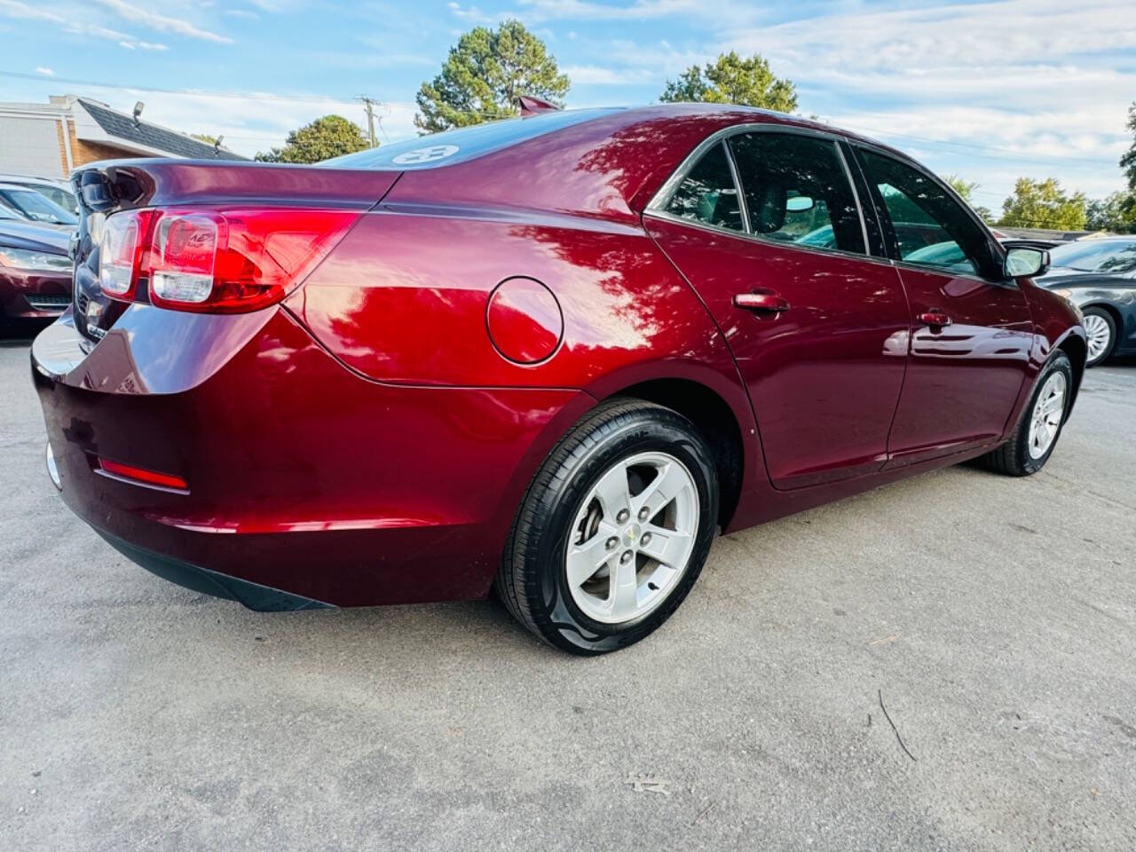
[[[484,595],[533,471],[592,404],[376,383],[278,308],[132,306],[98,344],[68,310],[32,368],[67,506],[143,567],[254,609]]]

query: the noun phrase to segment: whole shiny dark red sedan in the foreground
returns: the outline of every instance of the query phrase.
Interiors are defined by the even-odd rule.
[[[1085,364],[1044,252],[897,151],[758,110],[75,183],[76,303],[32,351],[52,478],[131,559],[254,609],[495,588],[611,651],[719,528],[975,457],[1037,471]]]

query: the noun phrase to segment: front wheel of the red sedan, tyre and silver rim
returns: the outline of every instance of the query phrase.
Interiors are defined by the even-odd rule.
[[[987,467],[1009,476],[1041,470],[1056,446],[1072,392],[1072,365],[1058,352],[1042,369],[1013,437],[983,457]]]

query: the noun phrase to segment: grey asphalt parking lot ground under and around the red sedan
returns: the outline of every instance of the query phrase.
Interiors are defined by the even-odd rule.
[[[1136,847],[1136,364],[1041,475],[719,538],[599,659],[149,575],[56,494],[27,373],[0,341],[2,850]]]

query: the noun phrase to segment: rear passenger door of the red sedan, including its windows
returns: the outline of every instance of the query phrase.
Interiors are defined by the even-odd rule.
[[[866,251],[835,139],[771,125],[716,134],[644,222],[729,342],[775,487],[878,470],[908,307],[891,262]]]

